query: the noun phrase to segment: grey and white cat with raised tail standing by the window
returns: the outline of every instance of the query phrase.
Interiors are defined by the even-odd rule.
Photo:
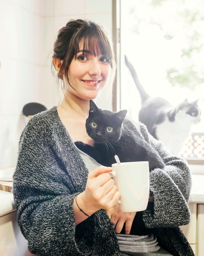
[[[147,126],[149,133],[162,141],[166,150],[178,155],[186,139],[190,135],[192,124],[200,122],[200,109],[197,101],[185,99],[173,107],[167,100],[150,97],[141,85],[134,66],[125,56],[125,64],[132,74],[134,83],[140,93],[141,108],[139,121]]]

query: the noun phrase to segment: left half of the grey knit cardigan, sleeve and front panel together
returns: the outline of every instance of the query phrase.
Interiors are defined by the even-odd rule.
[[[94,250],[101,250],[101,255],[119,255],[114,230],[104,210],[75,226],[72,202],[85,189],[87,175],[66,129],[54,119],[33,117],[22,132],[13,175],[18,224],[30,252],[77,256],[96,255]],[[102,234],[104,244],[110,241],[112,246],[102,248],[97,232]]]

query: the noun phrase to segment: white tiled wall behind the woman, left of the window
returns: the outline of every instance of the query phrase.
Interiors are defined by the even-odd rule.
[[[112,33],[112,1],[0,0],[0,168],[16,164],[23,106],[58,103],[52,47],[70,18],[96,21]]]

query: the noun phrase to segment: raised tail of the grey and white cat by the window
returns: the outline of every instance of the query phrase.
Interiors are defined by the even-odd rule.
[[[125,64],[126,66],[128,67],[130,73],[132,74],[132,78],[133,78],[133,81],[140,93],[140,99],[142,101],[142,103],[147,99],[149,98],[149,94],[147,94],[147,92],[145,92],[145,89],[143,88],[143,86],[141,85],[139,79],[138,79],[138,76],[137,76],[137,73],[134,69],[134,66],[132,65],[132,63],[130,63],[125,55]]]

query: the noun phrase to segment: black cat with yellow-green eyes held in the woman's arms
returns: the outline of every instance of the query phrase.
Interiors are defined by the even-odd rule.
[[[90,100],[86,131],[94,140],[94,147],[80,141],[75,142],[76,146],[104,166],[115,163],[114,155],[118,155],[121,162],[148,161],[150,171],[163,168],[162,158],[145,139],[131,131],[124,133],[122,126],[126,113],[127,110],[117,113],[101,110]]]

